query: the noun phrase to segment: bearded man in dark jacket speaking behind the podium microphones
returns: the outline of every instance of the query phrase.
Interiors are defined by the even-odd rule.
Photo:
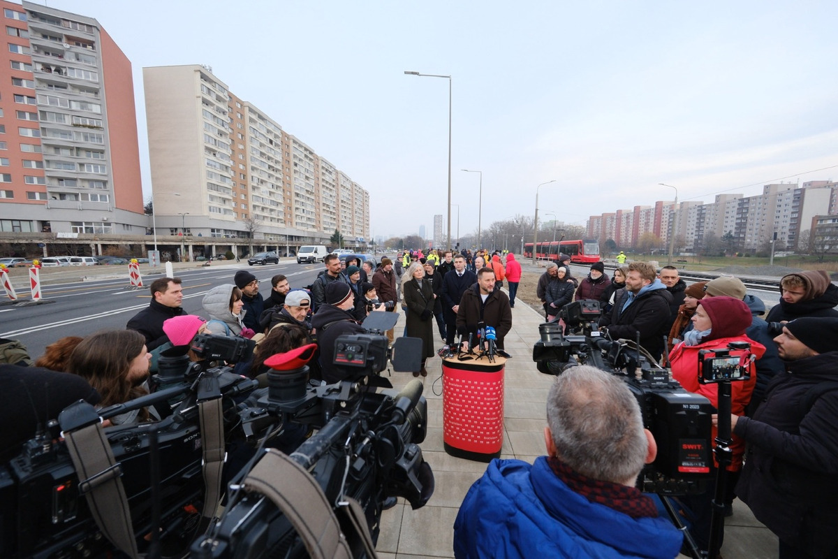
[[[498,349],[504,349],[504,336],[512,329],[512,308],[505,292],[494,288],[492,268],[478,270],[477,285],[463,293],[457,309],[457,329],[476,332],[479,323],[494,328]]]

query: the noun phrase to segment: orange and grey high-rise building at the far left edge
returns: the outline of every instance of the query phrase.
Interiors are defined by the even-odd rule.
[[[0,4],[0,230],[144,235],[131,62],[94,18]]]

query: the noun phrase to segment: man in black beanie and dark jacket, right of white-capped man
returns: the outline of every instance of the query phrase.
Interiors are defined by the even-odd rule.
[[[352,314],[354,295],[345,282],[331,282],[326,286],[325,304],[312,318],[314,334],[320,348],[320,370],[323,380],[332,384],[344,379],[346,373],[334,365],[334,340],[343,334],[364,334],[364,327]]]

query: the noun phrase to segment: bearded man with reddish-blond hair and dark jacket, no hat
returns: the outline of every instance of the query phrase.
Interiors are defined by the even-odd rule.
[[[655,360],[660,360],[664,336],[670,316],[672,296],[657,278],[649,262],[632,262],[626,277],[626,293],[614,303],[610,315],[599,319],[600,329],[611,339],[635,341],[640,334],[640,345]],[[604,327],[604,328],[603,328]]]

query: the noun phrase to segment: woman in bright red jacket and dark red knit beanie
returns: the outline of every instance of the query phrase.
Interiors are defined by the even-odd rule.
[[[751,346],[751,353],[757,359],[765,353],[765,347],[753,341],[745,334],[751,325],[751,309],[741,299],[732,297],[706,297],[699,301],[696,312],[691,321],[694,328],[684,334],[684,341],[675,345],[670,352],[672,378],[680,383],[686,391],[705,396],[718,409],[719,390],[716,384],[700,384],[698,381],[702,349],[725,349],[732,342],[747,342]],[[753,387],[757,383],[756,368],[753,361],[747,362],[747,370],[751,378],[731,383],[731,411],[737,416],[744,415],[745,407],[751,400]],[[712,438],[716,438],[714,427]],[[736,485],[740,470],[742,470],[742,455],[745,453],[745,443],[739,437],[732,437],[730,449],[732,460],[727,466],[727,477],[730,480],[727,489]],[[716,464],[717,466],[717,464]],[[715,486],[703,494],[686,495],[680,499],[690,507],[693,513],[692,534],[701,549],[708,546],[707,537],[710,534],[712,514],[711,499]],[[726,510],[731,510],[733,501],[731,494],[725,496]],[[732,514],[732,510],[731,510]]]

